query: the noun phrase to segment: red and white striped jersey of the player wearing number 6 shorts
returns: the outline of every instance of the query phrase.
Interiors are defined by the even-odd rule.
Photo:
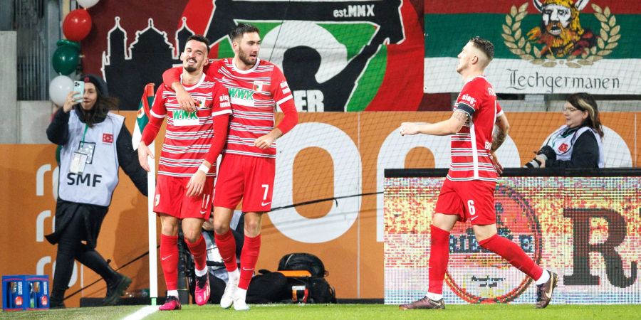
[[[490,159],[492,130],[503,113],[494,88],[484,76],[468,80],[454,104],[454,111],[468,114],[457,134],[452,135],[452,164],[447,178],[452,181],[496,181],[498,174]]]

